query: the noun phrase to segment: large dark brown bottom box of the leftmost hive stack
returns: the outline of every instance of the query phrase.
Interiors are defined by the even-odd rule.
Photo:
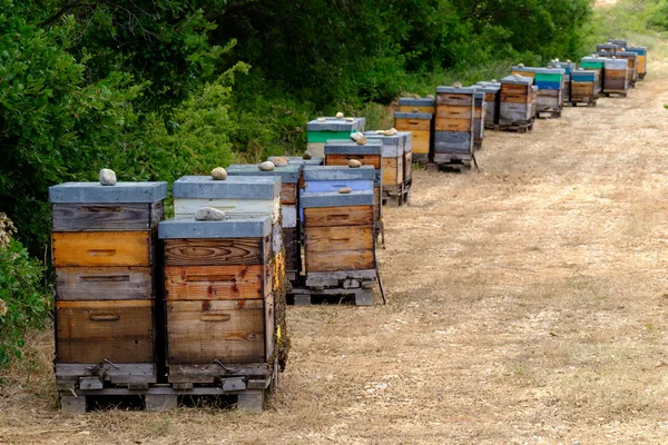
[[[153,300],[57,301],[57,363],[150,363]]]

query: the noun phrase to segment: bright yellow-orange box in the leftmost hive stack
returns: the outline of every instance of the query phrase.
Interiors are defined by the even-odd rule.
[[[53,266],[150,266],[149,231],[51,234]]]

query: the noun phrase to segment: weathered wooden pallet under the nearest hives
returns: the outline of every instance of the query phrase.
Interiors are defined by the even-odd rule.
[[[188,382],[173,384],[151,384],[147,388],[132,389],[114,385],[90,387],[77,385],[66,389],[59,383],[60,407],[70,414],[84,414],[96,409],[96,403],[110,405],[132,406],[136,409],[147,412],[167,412],[175,409],[186,399],[200,400],[204,398],[228,398],[225,406],[235,406],[247,413],[262,413],[265,408],[265,399],[278,385],[277,364],[272,367],[268,364],[257,365],[226,365],[234,369],[230,376],[224,376],[219,365],[190,365],[190,372],[208,370],[215,368],[218,377],[212,384],[194,384]],[[246,369],[250,374],[244,375]],[[236,370],[242,369],[240,373]],[[258,373],[264,375],[258,376]],[[239,375],[235,375],[239,374]],[[246,373],[247,374],[247,373]],[[197,378],[195,378],[197,379]],[[68,382],[69,383],[69,382]],[[196,404],[199,404],[196,402]],[[111,405],[111,406],[114,406]]]

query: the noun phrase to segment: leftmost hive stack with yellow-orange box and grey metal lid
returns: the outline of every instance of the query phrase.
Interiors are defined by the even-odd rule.
[[[49,188],[59,388],[157,382],[158,222],[167,182]]]

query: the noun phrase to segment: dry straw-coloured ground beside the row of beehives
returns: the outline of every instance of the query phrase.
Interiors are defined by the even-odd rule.
[[[292,308],[265,414],[61,414],[43,335],[23,388],[0,388],[0,443],[668,443],[668,79],[650,71],[626,100],[490,134],[480,174],[418,171],[386,212],[390,304]]]

